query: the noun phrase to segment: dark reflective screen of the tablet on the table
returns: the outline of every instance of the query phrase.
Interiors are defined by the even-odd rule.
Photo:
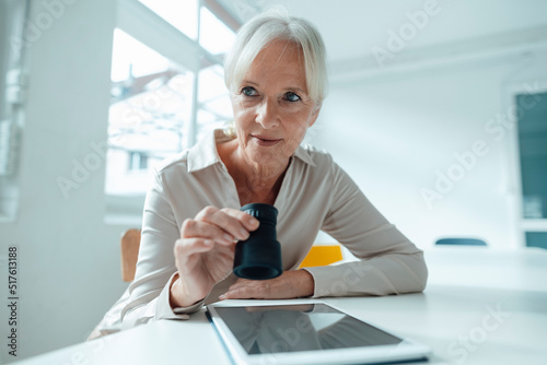
[[[247,354],[396,345],[403,339],[325,304],[217,307]]]

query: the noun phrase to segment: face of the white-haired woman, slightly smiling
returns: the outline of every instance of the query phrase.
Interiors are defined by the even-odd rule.
[[[287,164],[319,108],[310,99],[302,50],[275,40],[231,95],[240,151],[248,162]]]

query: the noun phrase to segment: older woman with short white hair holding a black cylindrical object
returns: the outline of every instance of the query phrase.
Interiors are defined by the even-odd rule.
[[[327,83],[325,47],[309,22],[278,12],[238,32],[225,59],[234,126],[166,161],[146,200],[135,281],[98,333],[162,318],[188,318],[232,298],[295,298],[420,292],[417,249],[366,200],[330,155],[301,146]],[[232,273],[235,242],[258,221],[244,204],[274,204],[283,274]],[[360,261],[298,270],[319,229]]]

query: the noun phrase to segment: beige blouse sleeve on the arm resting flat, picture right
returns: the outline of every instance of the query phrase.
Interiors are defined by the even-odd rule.
[[[322,229],[360,260],[306,268],[315,281],[314,297],[423,291],[423,251],[387,222],[337,164],[330,173],[333,200]]]

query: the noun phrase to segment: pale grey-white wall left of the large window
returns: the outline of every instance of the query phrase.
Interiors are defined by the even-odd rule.
[[[42,25],[28,48],[19,214],[0,223],[1,254],[11,245],[20,250],[18,357],[8,355],[3,340],[4,362],[83,341],[126,286],[119,269],[124,227],[103,223],[104,160],[68,199],[57,184],[59,176],[71,178],[73,160],[91,162],[92,142],[106,139],[115,2],[65,2],[65,9],[47,10],[46,2],[33,1],[30,15],[44,25],[54,21]],[[5,292],[2,285],[2,298]]]

